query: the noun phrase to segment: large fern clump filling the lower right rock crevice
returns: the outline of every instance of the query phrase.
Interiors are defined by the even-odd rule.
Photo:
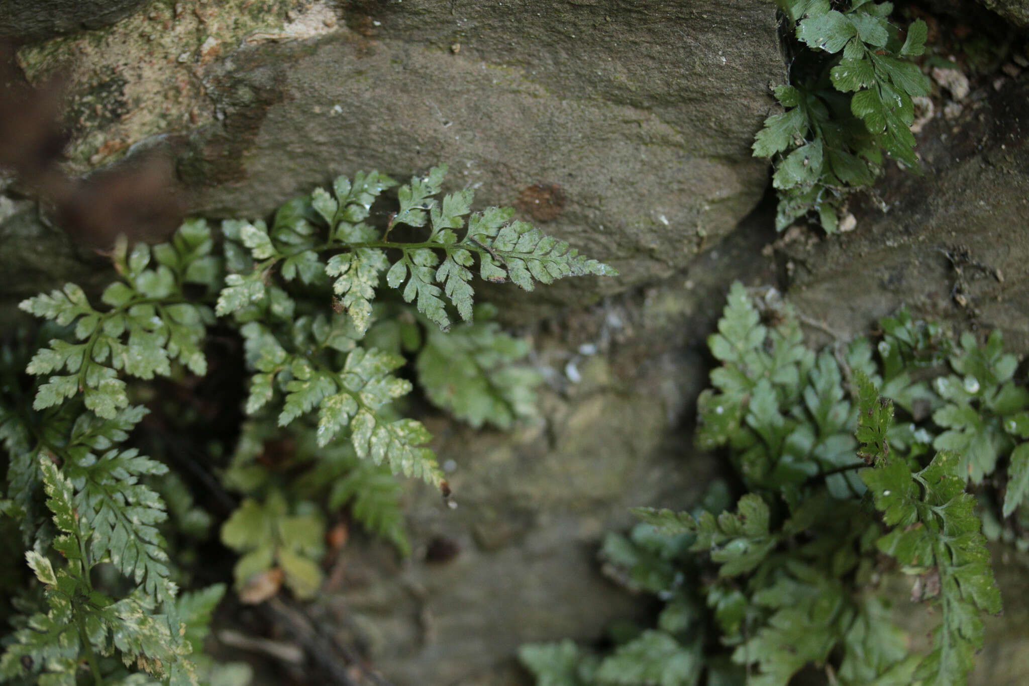
[[[776,323],[733,286],[698,403],[698,445],[744,493],[734,504],[715,481],[690,511],[636,509],[601,556],[664,601],[657,626],[620,631],[607,654],[524,646],[537,683],[785,686],[812,667],[848,686],[966,683],[982,617],[1001,608],[987,541],[1029,547],[1017,358],[999,332],[955,344],[906,310],[876,345],[816,354],[788,306],[764,314]],[[928,654],[909,652],[879,594],[890,570],[931,607]]]

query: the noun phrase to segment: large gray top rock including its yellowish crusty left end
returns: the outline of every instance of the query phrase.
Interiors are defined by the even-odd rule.
[[[165,137],[197,212],[253,217],[339,173],[447,163],[451,188],[623,274],[546,289],[525,319],[683,267],[767,183],[750,143],[785,68],[759,0],[176,6],[22,51],[34,80],[70,69],[73,169]]]

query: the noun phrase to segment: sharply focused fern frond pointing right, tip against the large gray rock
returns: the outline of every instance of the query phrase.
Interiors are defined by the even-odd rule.
[[[385,232],[364,224],[370,203],[395,182],[377,172],[358,174],[354,184],[340,177],[334,197],[324,189],[296,198],[280,209],[269,229],[263,222],[227,221],[222,231],[234,247],[227,260],[232,274],[218,299],[218,315],[227,315],[265,297],[269,272],[281,264],[286,281],[299,276],[315,283],[316,273],[333,279],[339,306],[353,318],[358,332],[370,324],[371,302],[385,273],[391,288],[439,328],[451,325],[448,303],[464,321],[472,318],[472,276],[475,256],[488,281],[506,281],[532,290],[535,282],[553,283],[569,276],[613,276],[611,267],[589,259],[563,241],[544,236],[522,221],[510,221],[513,210],[491,208],[470,214],[473,193],[461,190],[435,197],[447,168],[431,169],[398,191],[399,211]],[[397,225],[423,228],[425,241],[389,241]],[[457,231],[466,229],[461,240]],[[391,260],[389,253],[399,253]],[[248,254],[247,254],[248,253]],[[327,255],[327,257],[325,256]],[[324,261],[323,261],[324,260]]]

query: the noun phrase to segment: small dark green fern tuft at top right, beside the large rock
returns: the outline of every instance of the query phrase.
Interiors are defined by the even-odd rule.
[[[790,84],[775,88],[785,108],[765,120],[754,156],[775,158],[776,228],[816,212],[837,230],[847,195],[879,176],[883,154],[918,169],[912,98],[929,81],[911,58],[925,49],[927,27],[916,20],[900,39],[891,2],[780,0],[799,55]]]

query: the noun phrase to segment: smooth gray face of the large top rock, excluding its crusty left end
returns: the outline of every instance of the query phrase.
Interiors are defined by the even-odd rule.
[[[544,296],[574,304],[682,267],[765,188],[750,144],[783,78],[767,5],[374,7],[348,15],[359,28],[213,68],[224,129],[190,163],[232,182],[201,211],[260,214],[335,173],[448,163],[451,187],[622,272]]]

